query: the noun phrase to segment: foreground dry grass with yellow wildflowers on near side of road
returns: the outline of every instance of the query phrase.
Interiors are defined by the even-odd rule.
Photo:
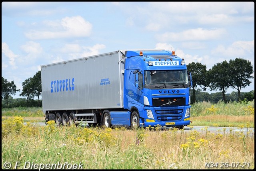
[[[2,163],[10,162],[10,169],[23,169],[26,162],[35,167],[60,163],[58,169],[64,163],[82,163],[80,169],[206,169],[211,161],[246,162],[250,165],[243,169],[254,169],[254,133],[250,132],[143,130],[150,136],[143,136],[144,143],[137,145],[141,134],[135,130],[59,127],[54,122],[20,128],[15,123],[19,119],[2,122]]]

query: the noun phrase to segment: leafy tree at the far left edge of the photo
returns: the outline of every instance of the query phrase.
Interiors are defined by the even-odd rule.
[[[14,81],[9,82],[2,77],[2,99],[6,100],[6,106],[8,106],[8,98],[10,95],[15,95],[17,91],[20,91],[20,89],[16,88],[17,86],[14,84]]]

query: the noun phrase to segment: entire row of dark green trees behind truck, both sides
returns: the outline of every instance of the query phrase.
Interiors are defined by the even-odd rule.
[[[206,65],[201,63],[189,63],[187,65],[188,71],[192,73],[192,96],[191,103],[196,101],[210,101],[216,103],[219,100],[224,102],[240,101],[240,100],[254,100],[254,90],[250,92],[240,92],[241,88],[249,86],[250,79],[253,79],[253,66],[250,61],[246,59],[236,58],[230,60],[229,63],[225,60],[222,63],[216,63],[211,69],[206,70]],[[198,88],[196,90],[197,87]],[[221,92],[211,93],[204,92],[206,88],[210,91],[220,90]],[[7,81],[2,77],[2,107],[17,107],[18,106],[34,106],[34,97],[37,97],[37,105],[42,106],[40,96],[42,95],[41,85],[41,71],[38,71],[33,77],[22,82],[22,92],[20,96],[24,98],[14,100],[11,95],[15,95],[20,89],[17,89],[14,81]],[[237,92],[227,94],[228,88],[234,88]],[[221,94],[221,95],[220,95]],[[12,105],[8,104],[8,100],[12,101]],[[15,105],[14,105],[15,103]]]

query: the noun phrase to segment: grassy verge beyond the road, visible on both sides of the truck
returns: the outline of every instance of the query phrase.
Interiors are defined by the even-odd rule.
[[[190,126],[240,127],[249,125],[254,128],[254,100],[216,104],[196,102],[191,105]],[[2,108],[2,121],[21,116],[24,122],[45,122],[42,107]]]

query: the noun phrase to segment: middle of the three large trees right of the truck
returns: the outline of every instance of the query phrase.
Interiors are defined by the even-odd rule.
[[[230,87],[232,77],[230,75],[230,65],[225,60],[222,63],[217,63],[208,71],[206,82],[209,84],[210,90],[220,90],[222,99],[226,102],[225,92]]]

